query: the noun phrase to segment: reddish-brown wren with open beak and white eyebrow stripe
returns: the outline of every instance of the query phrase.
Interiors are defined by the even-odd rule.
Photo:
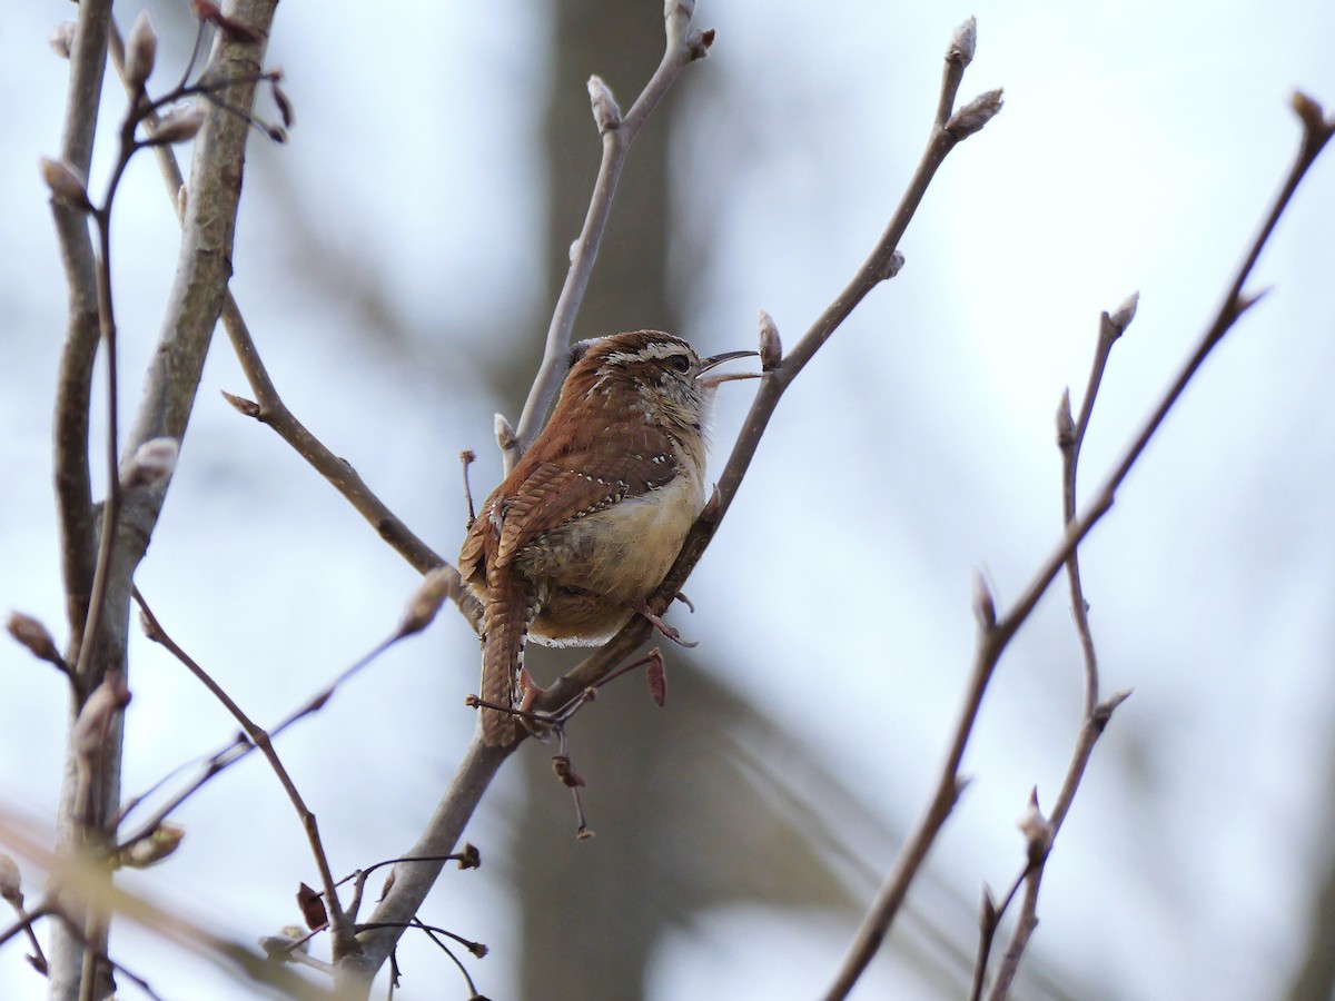
[[[482,699],[529,687],[525,643],[610,639],[668,574],[705,506],[714,390],[750,374],[706,372],[754,351],[700,358],[653,330],[583,340],[551,419],[482,505],[459,574],[482,602]],[[489,745],[514,717],[482,709]]]

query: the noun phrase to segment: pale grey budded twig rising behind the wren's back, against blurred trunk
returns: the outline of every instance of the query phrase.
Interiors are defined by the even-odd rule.
[[[602,161],[598,165],[598,178],[594,182],[583,228],[570,250],[570,270],[566,272],[565,284],[557,296],[557,308],[551,315],[551,324],[547,327],[542,363],[538,367],[533,388],[529,391],[529,398],[525,400],[519,424],[515,427],[515,444],[505,450],[506,472],[514,467],[519,455],[538,436],[547,416],[547,408],[566,376],[575,316],[583,303],[594,262],[598,259],[598,248],[607,228],[607,219],[611,216],[611,202],[615,198],[617,183],[621,180],[621,170],[626,163],[630,145],[654,108],[681,76],[682,69],[697,59],[704,59],[714,40],[713,31],[700,31],[690,27],[696,0],[668,0],[663,11],[666,47],[662,61],[625,116],[617,112],[606,84],[597,77],[590,80],[594,120],[602,135]]]

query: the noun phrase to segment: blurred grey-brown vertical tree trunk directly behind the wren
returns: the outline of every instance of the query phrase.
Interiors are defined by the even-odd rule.
[[[585,84],[590,75],[598,73],[622,109],[629,108],[662,57],[663,23],[662,4],[649,0],[561,0],[551,9],[555,24],[546,113],[550,262],[546,302],[554,304],[565,280],[570,243],[583,224],[602,149]],[[670,222],[668,148],[673,109],[681,97],[669,95],[635,140],[575,338],[643,327],[678,330],[678,315],[665,290],[665,272]],[[537,352],[539,347],[535,339],[531,350]],[[523,997],[623,1001],[643,992],[645,966],[658,934],[653,913],[657,909],[635,908],[630,900],[643,889],[645,874],[635,858],[637,797],[629,790],[645,781],[662,745],[634,733],[642,722],[638,714],[622,713],[619,705],[611,705],[621,703],[618,695],[627,694],[614,693],[609,705],[598,706],[599,726],[589,727],[583,725],[587,721],[581,721],[575,751],[581,767],[597,771],[598,815],[591,822],[595,830],[605,826],[607,837],[574,844],[569,797],[553,778],[549,755],[537,746],[525,749],[533,751],[525,755],[533,815],[515,831],[517,844],[510,853],[517,865],[523,916]],[[674,711],[689,707],[676,705]],[[538,842],[561,840],[569,849],[579,850],[571,850],[575,857],[562,861],[538,853],[534,864],[526,865],[525,858],[535,848],[534,838],[525,837],[527,831],[534,831]]]

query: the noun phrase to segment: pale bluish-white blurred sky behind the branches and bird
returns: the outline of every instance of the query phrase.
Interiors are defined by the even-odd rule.
[[[117,4],[121,24],[138,9]],[[268,61],[287,71],[298,123],[287,147],[256,137],[247,167],[232,288],[279,388],[446,555],[463,533],[457,452],[479,451],[475,490],[499,470],[499,404],[467,352],[513,350],[474,343],[470,330],[515,302],[542,307],[551,267],[538,190],[549,9],[280,5]],[[61,639],[49,399],[64,286],[36,160],[57,151],[64,105],[65,64],[45,36],[71,13],[44,0],[0,16],[0,607],[40,617]],[[1298,143],[1292,88],[1335,105],[1335,7],[1320,0],[701,0],[697,23],[718,40],[669,97],[686,108],[674,165],[674,196],[694,220],[674,251],[689,276],[686,336],[706,351],[750,346],[764,307],[796,342],[884,227],[926,137],[940,56],[969,15],[979,51],[961,100],[1004,87],[1005,109],[943,168],[901,246],[900,278],[784,399],[684,619],[726,665],[724,681],[888,825],[921,810],[947,746],[973,642],[972,570],[1005,605],[1057,539],[1053,414],[1064,386],[1079,402],[1099,311],[1141,294],[1087,439],[1087,487],[1227,287]],[[160,65],[174,68],[180,53],[164,48]],[[706,75],[702,100],[696,77]],[[123,107],[117,87],[107,95],[104,129]],[[617,96],[629,107],[634,95],[622,85]],[[570,141],[595,143],[591,125]],[[1252,287],[1272,292],[1216,351],[1083,549],[1104,690],[1135,695],[1060,836],[1033,948],[1109,997],[1275,997],[1331,850],[1331,156],[1262,260]],[[362,318],[292,250],[294,212],[384,283],[406,339],[359,334]],[[178,232],[147,156],[115,226],[128,415]],[[514,343],[539,335],[517,330]],[[457,363],[417,362],[427,344]],[[138,582],[172,635],[274,721],[392,627],[415,575],[219,390],[246,392],[222,334]],[[720,452],[749,392],[725,387]],[[973,782],[932,856],[965,900],[983,881],[1009,882],[1028,790],[1037,785],[1047,807],[1067,765],[1080,669],[1063,595],[1003,661],[965,762]],[[131,655],[127,791],[234,733],[178,665],[138,641]],[[336,872],[410,844],[471,731],[462,697],[475,671],[475,641],[443,615],[284,737]],[[0,807],[49,830],[64,691],[9,643],[0,677]],[[487,844],[514,790],[502,778],[470,840]],[[179,857],[128,886],[243,941],[296,920],[292,889],[314,869],[262,762],[228,773],[182,819]],[[890,857],[882,845],[864,861],[884,872]],[[24,870],[36,898],[41,874]],[[431,920],[495,949],[470,962],[495,998],[514,996],[502,886],[486,868],[447,874],[427,905]],[[972,954],[972,920],[948,932]],[[650,997],[810,997],[848,938],[820,916],[720,909],[665,942]],[[212,968],[131,928],[116,946],[166,997],[236,996]],[[415,949],[409,969],[402,997],[463,996],[439,957]],[[0,950],[0,996],[41,997],[43,986],[19,946]],[[932,994],[890,960],[856,993],[888,996]]]

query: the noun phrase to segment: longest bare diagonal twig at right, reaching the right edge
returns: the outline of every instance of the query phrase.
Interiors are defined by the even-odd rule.
[[[1315,113],[1308,113],[1308,109],[1316,107],[1315,101],[1299,95],[1295,97],[1295,105],[1299,109],[1299,116],[1303,121],[1304,129],[1302,147],[1292,167],[1290,168],[1283,188],[1279,195],[1276,195],[1275,202],[1266,216],[1260,232],[1256,235],[1243,264],[1234,276],[1234,282],[1224,298],[1224,302],[1220,304],[1215,318],[1203,334],[1200,344],[1191,358],[1188,358],[1183,364],[1172,386],[1164,392],[1159,404],[1145,420],[1140,434],[1123,454],[1121,460],[1112,470],[1112,472],[1108,474],[1107,479],[1096,491],[1095,498],[1085,509],[1085,513],[1067,527],[1063,541],[1057,545],[1052,555],[1049,555],[1040,566],[1033,579],[1011,606],[1011,610],[1001,619],[992,625],[987,625],[981,630],[977,651],[975,654],[973,670],[964,697],[964,706],[960,710],[951,749],[939,774],[936,789],[922,813],[922,817],[913,827],[909,838],[900,849],[900,854],[896,858],[894,865],[886,874],[885,882],[877,893],[876,901],[864,918],[849,954],[845,957],[844,964],[840,968],[834,985],[825,996],[826,998],[833,1000],[846,997],[853,984],[866,968],[866,964],[870,962],[876,950],[880,948],[890,922],[894,920],[905,894],[908,893],[909,884],[913,881],[913,877],[921,868],[922,861],[926,858],[926,853],[932,846],[937,831],[949,817],[961,789],[959,770],[964,758],[964,749],[968,745],[973,722],[977,718],[979,707],[983,703],[984,691],[987,690],[992,671],[996,669],[1001,653],[1005,650],[1015,633],[1033,611],[1048,586],[1056,575],[1061,573],[1061,569],[1065,566],[1071,553],[1080,545],[1085,535],[1089,534],[1093,526],[1099,523],[1108,510],[1111,510],[1117,488],[1121,486],[1131,468],[1136,464],[1136,460],[1144,452],[1145,446],[1159,430],[1168,411],[1172,410],[1173,404],[1176,404],[1176,402],[1181,398],[1183,390],[1191,382],[1196,371],[1199,371],[1202,363],[1206,360],[1206,356],[1215,347],[1215,344],[1219,343],[1224,334],[1227,334],[1228,330],[1232,328],[1232,326],[1242,318],[1247,308],[1256,302],[1255,298],[1243,295],[1243,286],[1247,283],[1256,259],[1260,256],[1266,242],[1270,239],[1271,232],[1274,232],[1275,224],[1287,208],[1299,182],[1302,182],[1312,161],[1330,140],[1332,131],[1335,131],[1335,123],[1323,120],[1320,117],[1319,108]],[[1109,699],[1108,702],[1112,703],[1113,699]],[[1109,706],[1109,711],[1111,707],[1112,706]],[[1097,715],[1099,714],[1096,713],[1096,718]],[[1088,759],[1088,751],[1093,746],[1093,737],[1096,737],[1096,734],[1088,735],[1083,733],[1081,741],[1076,747],[1076,758],[1081,759],[1081,762]],[[1080,765],[1080,769],[1083,770],[1083,763]],[[1068,773],[1068,777],[1071,774],[1073,773]]]

